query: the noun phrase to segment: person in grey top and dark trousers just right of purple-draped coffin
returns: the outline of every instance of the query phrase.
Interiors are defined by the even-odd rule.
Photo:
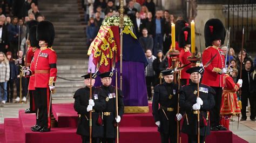
[[[147,97],[148,97],[148,100],[152,100],[151,86],[154,84],[153,61],[154,61],[154,59],[156,59],[156,57],[154,57],[152,55],[152,51],[151,50],[147,49],[146,50],[146,58],[147,58],[147,62],[149,63],[146,66],[146,69],[145,69],[146,86],[147,86]]]

